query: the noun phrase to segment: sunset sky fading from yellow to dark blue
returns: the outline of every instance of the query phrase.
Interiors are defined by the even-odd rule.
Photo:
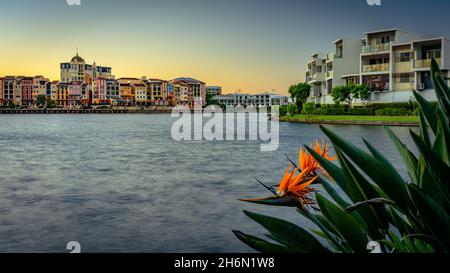
[[[450,38],[450,1],[0,0],[0,76],[59,80],[79,54],[116,77],[190,76],[225,93],[287,94],[315,52],[386,28]]]

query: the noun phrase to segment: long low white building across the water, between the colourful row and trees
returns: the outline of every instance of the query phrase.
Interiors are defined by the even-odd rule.
[[[288,105],[289,97],[280,96],[272,93],[262,94],[229,94],[213,97],[213,100],[229,106],[273,106],[273,105]]]

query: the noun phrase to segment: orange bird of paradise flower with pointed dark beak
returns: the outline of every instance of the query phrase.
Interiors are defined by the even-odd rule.
[[[334,161],[335,156],[330,156],[330,146],[323,141],[316,141],[310,145],[312,149],[323,158]],[[244,202],[257,203],[271,206],[298,207],[303,211],[308,208],[317,210],[312,193],[316,192],[315,183],[319,182],[319,173],[326,174],[320,164],[305,149],[300,148],[298,164],[289,160],[288,167],[280,183],[275,187],[268,187],[261,181],[265,188],[273,193],[273,196],[255,199],[240,199]],[[275,189],[276,188],[276,189]]]

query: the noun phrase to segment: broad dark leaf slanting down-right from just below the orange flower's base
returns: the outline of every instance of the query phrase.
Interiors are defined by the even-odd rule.
[[[351,246],[355,253],[367,253],[367,237],[359,223],[344,210],[328,201],[320,194],[316,195],[322,214]]]

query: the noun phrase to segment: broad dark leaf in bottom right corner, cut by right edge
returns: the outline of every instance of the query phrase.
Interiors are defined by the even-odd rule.
[[[439,241],[442,248],[450,251],[450,216],[432,198],[425,195],[422,190],[414,184],[408,185],[411,199],[423,219],[423,224],[433,233],[434,238]]]

